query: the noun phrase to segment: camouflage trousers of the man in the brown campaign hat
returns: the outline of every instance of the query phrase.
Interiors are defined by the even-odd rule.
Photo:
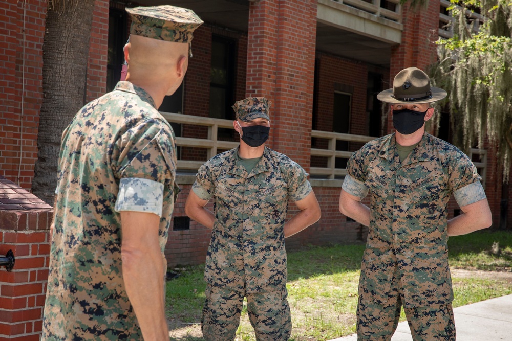
[[[357,339],[389,341],[400,319],[403,290],[398,267],[393,274],[391,294],[385,304],[359,297],[357,305]],[[413,341],[455,341],[455,321],[451,304],[403,308]]]

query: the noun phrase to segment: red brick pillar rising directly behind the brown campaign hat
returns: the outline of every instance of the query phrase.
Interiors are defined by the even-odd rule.
[[[400,70],[416,66],[427,72],[429,65],[437,60],[435,41],[439,39],[439,0],[426,2],[426,5],[411,9],[406,3],[402,6],[402,43],[391,48],[389,87]],[[393,122],[388,116],[388,132]]]

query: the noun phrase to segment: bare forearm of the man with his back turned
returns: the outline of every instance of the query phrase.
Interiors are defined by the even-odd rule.
[[[144,340],[169,339],[165,318],[164,259],[160,247],[123,250],[122,270],[126,293],[133,306]]]

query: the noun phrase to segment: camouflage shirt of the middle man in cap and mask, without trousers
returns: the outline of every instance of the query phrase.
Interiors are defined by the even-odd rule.
[[[214,197],[214,228],[204,279],[214,286],[247,293],[284,289],[286,250],[283,228],[288,201],[311,191],[304,169],[267,147],[250,174],[238,148],[211,158],[199,169],[194,193]]]

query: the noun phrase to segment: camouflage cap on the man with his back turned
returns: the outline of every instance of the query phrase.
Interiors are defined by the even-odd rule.
[[[127,8],[132,18],[130,34],[165,41],[188,42],[203,20],[194,11],[170,6]]]

